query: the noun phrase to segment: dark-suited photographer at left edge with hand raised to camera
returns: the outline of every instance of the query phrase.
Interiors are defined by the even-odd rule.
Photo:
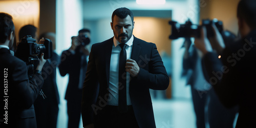
[[[14,38],[12,16],[0,13],[1,95],[4,96],[1,104],[5,107],[1,109],[4,118],[0,120],[0,127],[35,128],[33,103],[44,83],[41,70],[46,60],[41,54],[35,74],[29,79],[26,63],[13,56],[9,50]]]

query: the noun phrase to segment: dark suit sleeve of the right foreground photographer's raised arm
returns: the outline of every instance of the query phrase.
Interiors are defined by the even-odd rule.
[[[202,59],[202,67],[205,79],[214,87],[222,104],[231,108],[237,104],[237,99],[239,99],[237,83],[234,83],[233,80],[237,71],[230,64],[223,63],[227,60],[224,55],[230,54],[225,52],[222,54],[222,59],[219,59],[216,53],[205,54]]]

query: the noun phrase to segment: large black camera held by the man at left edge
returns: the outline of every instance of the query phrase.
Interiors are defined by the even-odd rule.
[[[26,62],[28,67],[28,75],[34,74],[34,61],[40,58],[41,53],[44,53],[44,59],[52,58],[52,41],[50,39],[40,39],[39,44],[36,40],[27,35],[17,42],[15,56]]]

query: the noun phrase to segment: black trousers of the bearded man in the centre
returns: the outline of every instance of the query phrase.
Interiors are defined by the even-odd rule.
[[[106,105],[95,117],[95,128],[125,128],[139,127],[133,107],[129,106],[127,112],[120,113],[118,106]]]

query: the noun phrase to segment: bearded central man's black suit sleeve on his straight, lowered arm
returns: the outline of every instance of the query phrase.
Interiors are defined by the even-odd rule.
[[[93,123],[94,110],[92,104],[95,102],[95,94],[97,91],[98,77],[96,71],[96,62],[94,57],[94,45],[91,48],[89,61],[86,72],[86,79],[83,82],[82,88],[82,122],[83,126]]]

